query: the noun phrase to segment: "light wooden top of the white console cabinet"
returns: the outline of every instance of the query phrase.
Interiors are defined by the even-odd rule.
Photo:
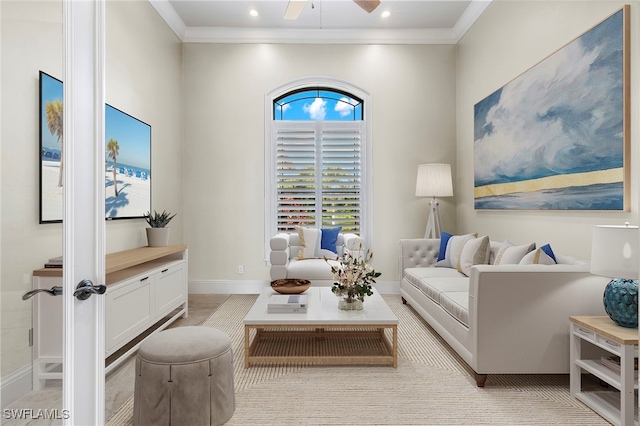
[[[105,274],[121,271],[142,263],[180,253],[187,249],[186,245],[166,247],[138,247],[130,250],[118,251],[106,255]],[[40,268],[33,271],[38,277],[61,277],[62,268]]]

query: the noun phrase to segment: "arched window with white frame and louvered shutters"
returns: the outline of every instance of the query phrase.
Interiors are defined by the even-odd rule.
[[[366,94],[332,83],[267,96],[266,241],[297,225],[341,226],[370,238]]]

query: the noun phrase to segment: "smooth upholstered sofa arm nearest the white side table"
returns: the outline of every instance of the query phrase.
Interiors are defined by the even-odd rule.
[[[469,280],[477,373],[567,373],[569,316],[606,315],[609,279],[586,264],[475,265]]]

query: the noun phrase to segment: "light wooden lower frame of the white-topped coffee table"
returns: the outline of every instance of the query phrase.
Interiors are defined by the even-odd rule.
[[[255,330],[251,339],[251,329]],[[385,330],[391,330],[391,341]],[[314,337],[318,340],[329,338],[362,338],[373,337],[379,339],[386,348],[382,355],[255,355],[261,341],[272,337],[305,338]],[[251,363],[293,363],[314,362],[321,364],[389,364],[398,368],[398,326],[397,325],[337,325],[337,324],[269,324],[244,326],[244,368]]]

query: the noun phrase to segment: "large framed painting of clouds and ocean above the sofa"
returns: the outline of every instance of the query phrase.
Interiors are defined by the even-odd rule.
[[[628,211],[628,16],[475,105],[476,209]]]

